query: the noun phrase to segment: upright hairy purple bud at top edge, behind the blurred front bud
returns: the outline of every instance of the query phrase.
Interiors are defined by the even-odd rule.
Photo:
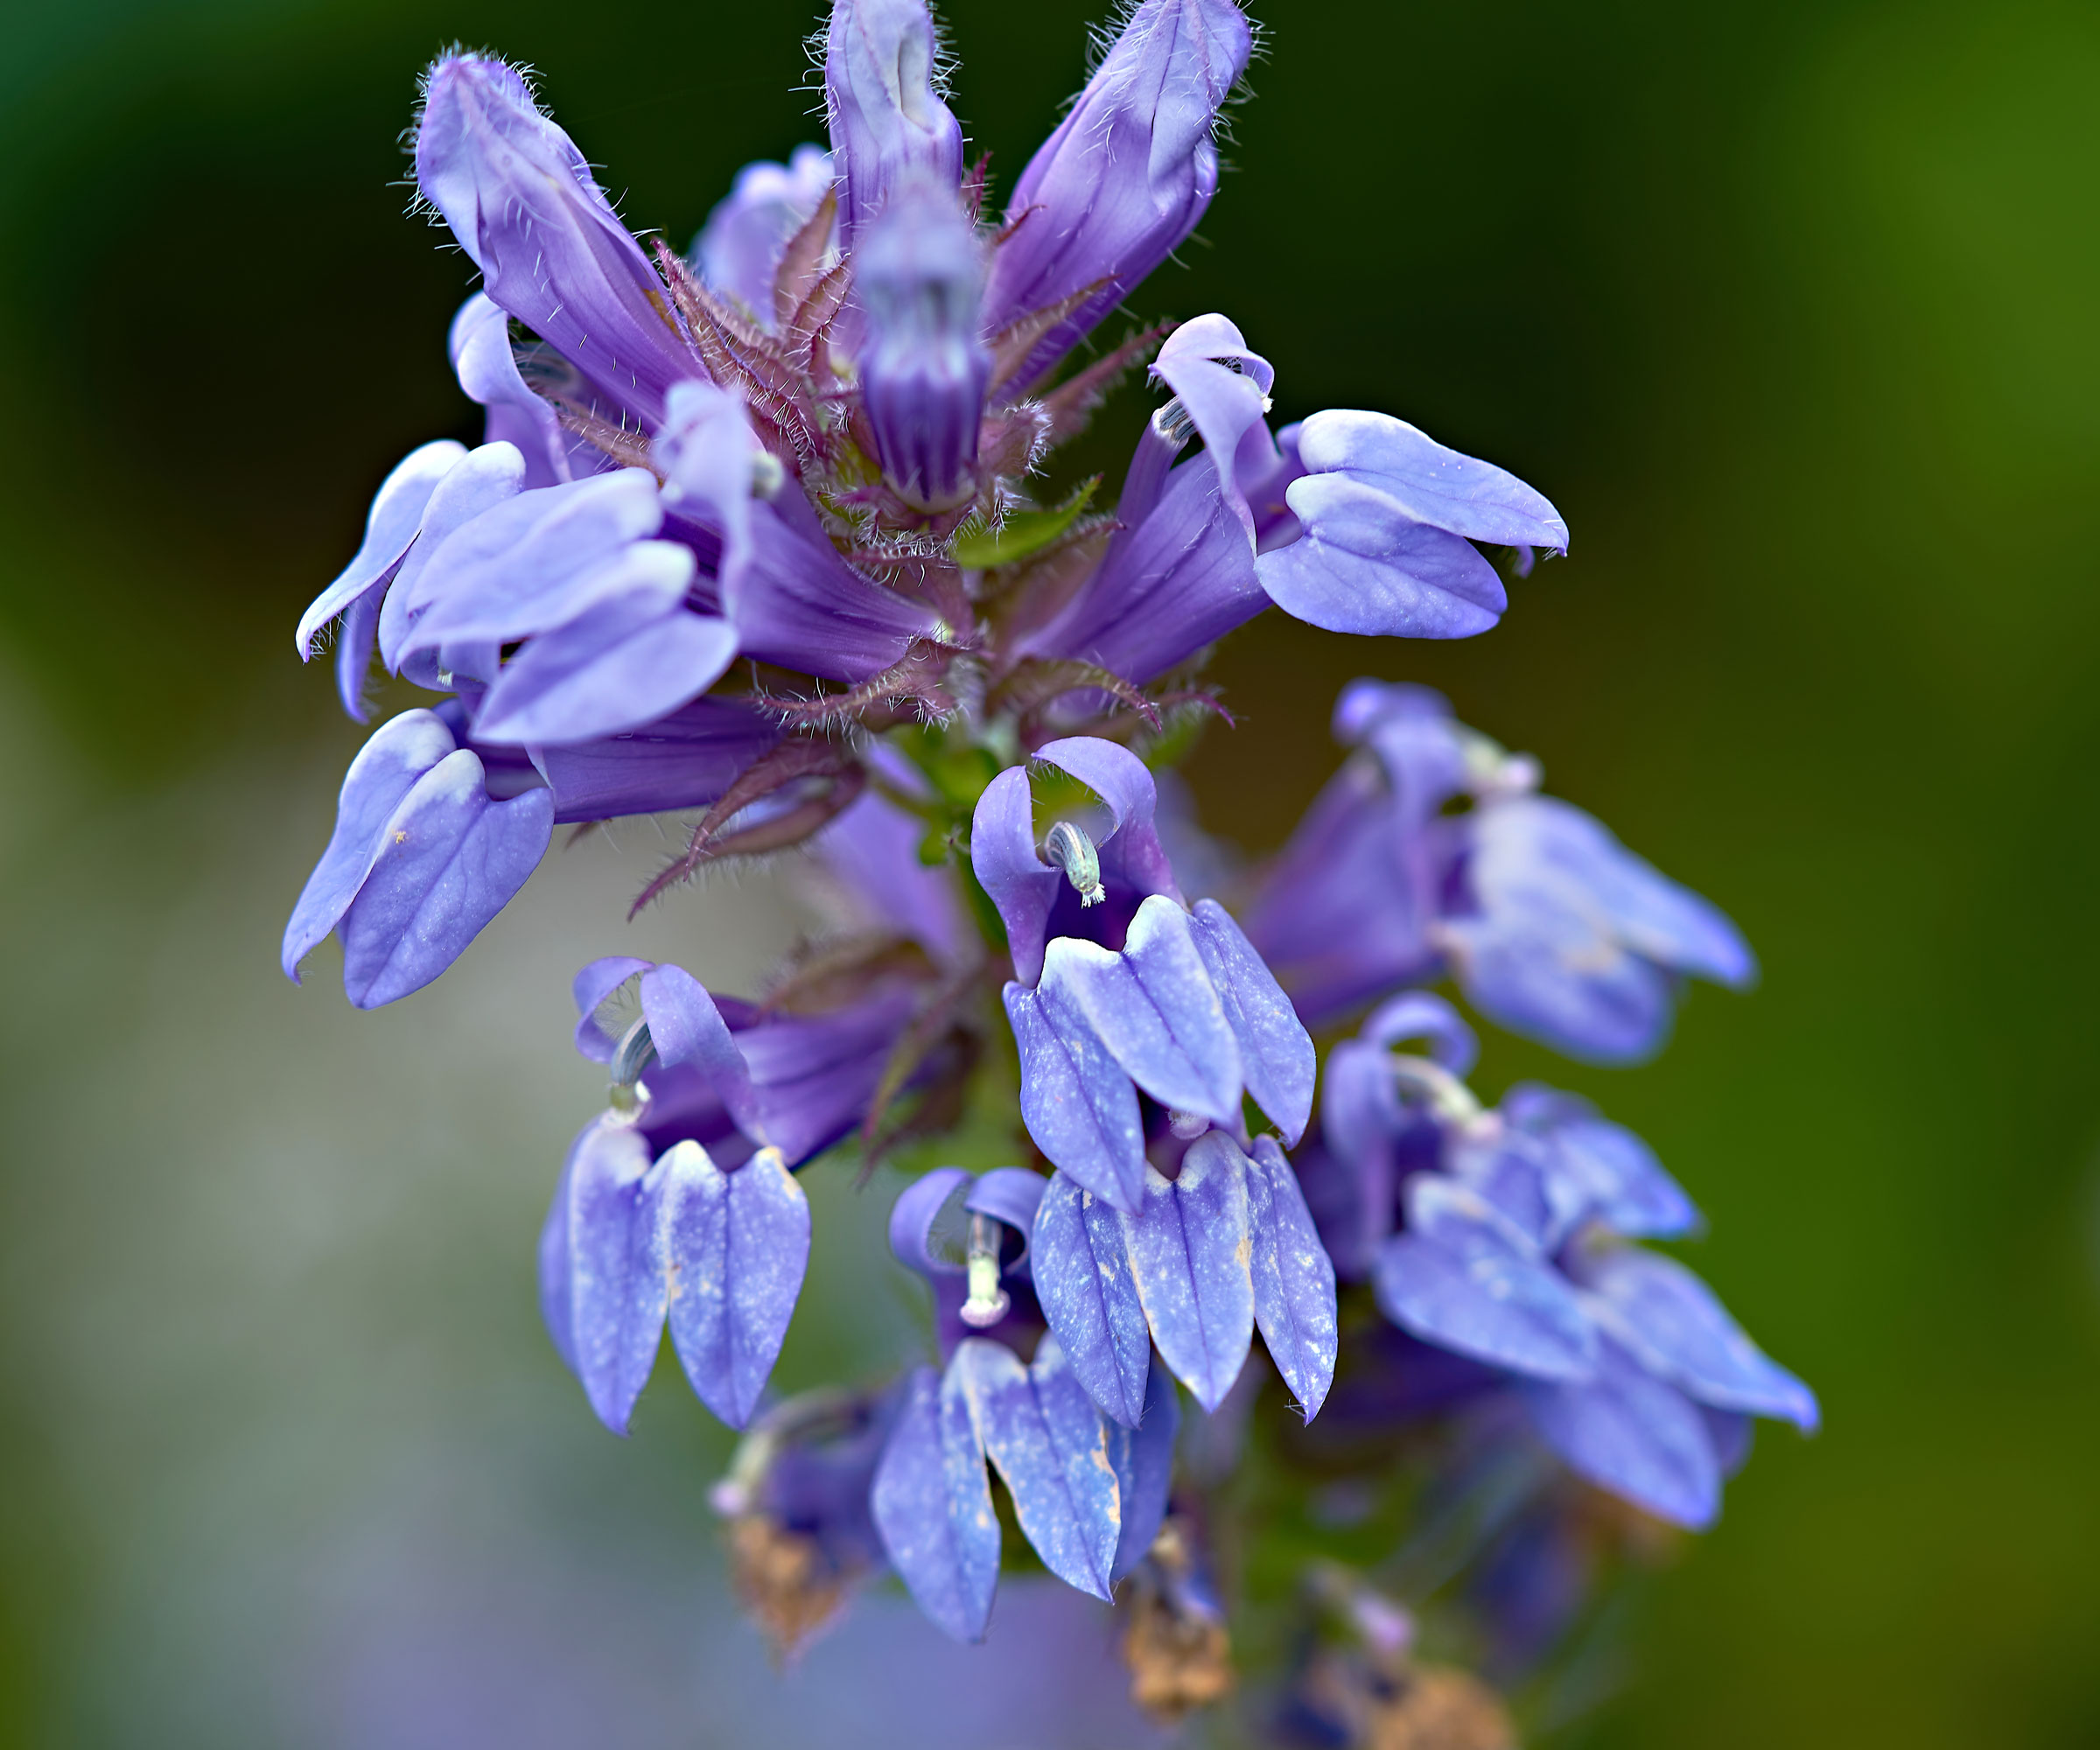
[[[823,38],[832,164],[846,200],[838,235],[859,231],[907,183],[962,183],[962,124],[941,101],[941,46],[926,0],[834,0]]]

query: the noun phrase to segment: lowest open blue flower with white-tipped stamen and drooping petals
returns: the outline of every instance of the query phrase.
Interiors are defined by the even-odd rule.
[[[890,1565],[918,1607],[958,1641],[981,1641],[1000,1578],[998,1473],[1021,1534],[1065,1584],[1109,1599],[1151,1550],[1166,1517],[1180,1410],[1163,1374],[1144,1416],[1102,1416],[1054,1336],[1031,1317],[1027,1233],[1040,1174],[939,1168],[897,1200],[890,1248],[932,1284],[945,1368],[903,1382],[872,1508]],[[968,1223],[962,1263],[941,1256],[937,1221]]]

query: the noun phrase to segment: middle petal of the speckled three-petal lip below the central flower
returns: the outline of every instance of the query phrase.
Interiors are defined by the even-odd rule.
[[[1180,1179],[1144,1170],[1144,1204],[1124,1214],[1144,1321],[1159,1357],[1216,1410],[1254,1347],[1247,1172],[1212,1130],[1182,1155]]]

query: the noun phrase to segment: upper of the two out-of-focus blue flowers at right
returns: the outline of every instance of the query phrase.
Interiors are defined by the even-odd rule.
[[[1756,977],[1726,916],[1537,794],[1537,765],[1466,729],[1441,695],[1354,681],[1336,735],[1359,752],[1247,914],[1308,1025],[1449,973],[1512,1032],[1636,1063],[1670,1036],[1686,979]],[[1470,809],[1445,813],[1453,800]]]

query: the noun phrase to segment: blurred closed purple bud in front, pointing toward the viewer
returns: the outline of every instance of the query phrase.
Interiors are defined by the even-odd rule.
[[[884,477],[907,504],[968,504],[991,355],[976,338],[976,231],[953,189],[899,189],[861,231],[855,279],[867,317],[861,403]]]

